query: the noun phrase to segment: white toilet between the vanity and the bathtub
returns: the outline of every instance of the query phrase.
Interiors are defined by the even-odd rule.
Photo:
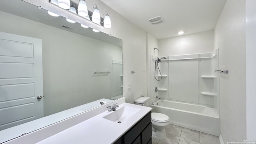
[[[149,97],[140,97],[137,98],[134,102],[137,105],[148,106],[150,107]],[[165,128],[170,124],[169,117],[165,114],[152,112],[151,113],[151,122],[152,122],[152,137],[158,139],[166,138]]]

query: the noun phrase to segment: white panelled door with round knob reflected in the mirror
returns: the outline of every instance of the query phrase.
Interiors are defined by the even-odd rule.
[[[41,40],[0,32],[0,130],[43,117],[42,97]]]

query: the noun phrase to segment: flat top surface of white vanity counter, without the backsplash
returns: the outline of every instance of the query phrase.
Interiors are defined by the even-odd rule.
[[[152,109],[129,103],[120,104],[118,108],[123,106],[140,108],[140,111],[120,124],[103,118],[110,114],[110,112],[106,111],[46,138],[38,142],[38,144],[112,144]]]

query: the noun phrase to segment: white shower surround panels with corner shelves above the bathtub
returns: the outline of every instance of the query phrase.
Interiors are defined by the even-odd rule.
[[[218,62],[216,61],[217,53],[218,50],[214,50],[208,53],[165,56],[167,59],[159,63],[162,80],[152,79],[153,82],[151,82],[151,88],[157,87],[158,92],[152,92],[151,97],[158,95],[164,99],[217,108],[218,73],[214,72]],[[152,64],[154,60],[150,62],[153,69],[150,72],[154,75],[154,64]]]

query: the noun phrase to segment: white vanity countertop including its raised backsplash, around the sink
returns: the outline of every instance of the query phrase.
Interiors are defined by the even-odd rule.
[[[119,124],[103,118],[104,116],[113,113],[108,112],[106,107],[113,106],[114,103],[117,103],[119,108],[130,106],[140,110],[128,120]],[[143,116],[150,112],[151,109],[152,108],[149,107],[125,103],[125,98],[123,97],[114,102],[110,102],[14,140],[10,140],[4,144],[49,144],[52,142],[55,144],[111,144]]]

